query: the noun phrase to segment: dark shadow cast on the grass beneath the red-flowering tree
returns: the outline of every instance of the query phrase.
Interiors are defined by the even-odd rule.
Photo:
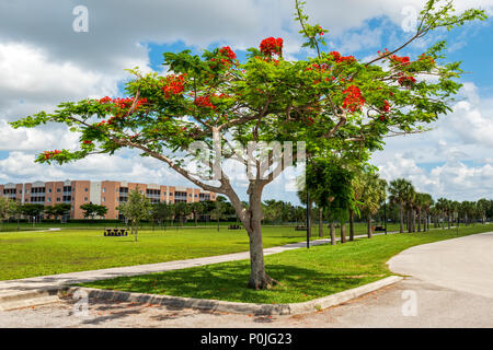
[[[219,264],[88,283],[91,288],[246,303],[297,303],[356,288],[378,279],[272,264],[267,273],[279,281],[270,290],[249,289],[248,261]]]

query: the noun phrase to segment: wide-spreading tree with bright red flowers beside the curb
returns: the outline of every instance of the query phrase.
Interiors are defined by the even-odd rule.
[[[142,155],[168,164],[205,190],[229,198],[250,237],[249,285],[268,288],[275,280],[265,272],[262,247],[262,191],[289,162],[279,162],[273,152],[232,152],[237,142],[305,141],[307,155],[342,152],[347,148],[375,150],[386,136],[422,130],[447,113],[448,100],[458,92],[459,63],[447,63],[445,43],[431,46],[417,57],[399,56],[414,40],[436,28],[451,28],[475,19],[483,11],[455,15],[447,2],[429,0],[419,19],[415,35],[392,50],[376,52],[370,61],[359,61],[324,48],[324,31],[311,25],[296,1],[297,21],[306,47],[316,55],[290,61],[283,56],[283,39],[266,38],[249,49],[239,62],[230,47],[204,51],[165,52],[167,75],[141,74],[126,84],[125,98],[88,98],[61,103],[54,113],[38,113],[12,122],[14,128],[61,122],[80,133],[77,150],[55,150],[39,154],[37,162],[59,164],[98,153],[136,149]],[[428,79],[433,78],[433,79]],[[194,143],[195,142],[195,143]],[[186,165],[197,160],[196,142],[209,150],[209,159],[198,161],[198,171]],[[262,158],[255,154],[262,153]],[[226,174],[222,161],[233,159],[251,165],[249,206],[244,206]],[[204,179],[210,174],[211,180]]]

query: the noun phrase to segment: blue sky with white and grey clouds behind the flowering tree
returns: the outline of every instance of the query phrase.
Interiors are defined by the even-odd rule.
[[[329,28],[329,49],[362,61],[410,37],[422,0],[306,0],[313,22]],[[76,32],[73,10],[89,11],[88,32]],[[493,0],[456,0],[491,15]],[[283,37],[290,59],[303,58],[294,0],[0,0],[0,183],[127,179],[190,185],[165,165],[131,151],[64,165],[33,162],[45,150],[73,148],[62,126],[13,130],[8,121],[59,102],[118,96],[126,68],[162,71],[163,51],[230,45],[239,57],[268,36]],[[433,130],[388,139],[372,163],[387,179],[406,177],[420,191],[457,200],[493,198],[493,34],[491,20],[439,32],[405,51],[416,57],[446,38],[448,60],[463,61],[463,89]],[[241,189],[240,189],[241,190]],[[244,198],[244,197],[243,197]],[[296,201],[279,183],[264,198]]]

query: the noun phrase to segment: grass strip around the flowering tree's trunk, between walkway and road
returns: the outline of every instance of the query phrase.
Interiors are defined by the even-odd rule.
[[[492,225],[461,228],[459,236],[490,232]],[[425,243],[457,237],[456,230],[379,235],[336,246],[322,245],[266,256],[266,269],[280,283],[271,290],[246,288],[248,260],[116,278],[84,287],[250,303],[295,303],[356,288],[390,276],[386,262]]]

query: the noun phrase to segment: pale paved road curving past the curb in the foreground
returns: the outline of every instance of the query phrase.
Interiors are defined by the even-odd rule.
[[[419,277],[306,315],[256,317],[91,300],[89,315],[80,316],[73,314],[74,301],[65,299],[0,312],[0,327],[493,327],[493,298],[488,293],[492,255],[492,233],[414,247],[390,265],[416,265],[416,272],[406,271]]]

